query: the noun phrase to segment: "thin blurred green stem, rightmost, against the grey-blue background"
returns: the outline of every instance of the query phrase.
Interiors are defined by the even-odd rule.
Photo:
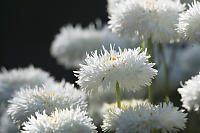
[[[165,71],[165,98],[166,98],[166,101],[169,101],[169,67],[167,66],[167,61],[165,58],[162,44],[159,43],[158,46],[159,46],[160,54],[162,56],[164,71]]]

